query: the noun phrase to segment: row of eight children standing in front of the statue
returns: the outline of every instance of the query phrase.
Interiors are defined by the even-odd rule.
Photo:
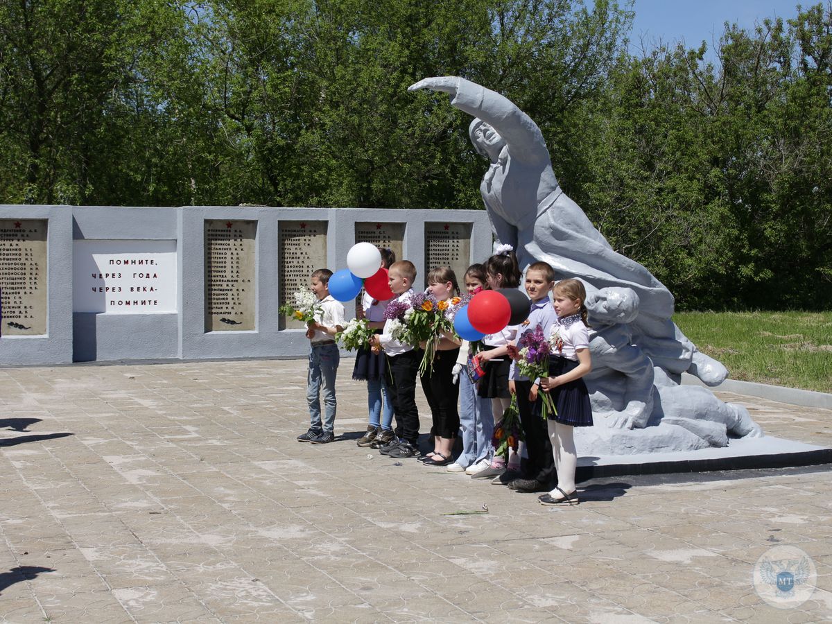
[[[522,324],[486,335],[478,349],[453,332],[439,337],[433,367],[420,377],[433,421],[429,435],[433,448],[419,456],[416,382],[423,351],[395,339],[393,319],[384,319],[384,310],[392,301],[408,303],[414,295],[416,267],[408,260],[396,261],[389,249],[381,252],[381,266],[389,270],[389,286],[395,297],[379,301],[365,293],[356,308],[357,318],[367,319],[377,332],[355,358],[353,378],[367,382],[369,403],[369,425],[359,447],[377,448],[391,458],[418,457],[425,465],[442,466],[449,473],[465,473],[471,478],[490,478],[492,483],[518,492],[541,492],[538,500],[545,505],[579,503],[573,429],[592,425],[589,395],[582,380],[592,368],[584,305],[587,295],[582,282],[568,279],[556,284],[552,267],[536,262],[526,270],[530,310]],[[331,271],[325,269],[312,275],[311,290],[320,311],[306,332],[311,341],[307,385],[310,429],[297,439],[314,444],[334,440],[334,385],[339,364],[334,336],[343,329],[344,306],[329,295],[329,275]],[[474,295],[486,289],[516,289],[520,280],[517,256],[511,247],[501,245],[484,265],[468,267],[464,287]],[[427,283],[437,301],[450,301],[459,294],[456,275],[448,266],[431,270]],[[522,357],[518,344],[522,334],[538,326],[552,344],[548,376],[527,379],[518,365]],[[477,374],[471,374],[472,369]],[[542,393],[552,398],[556,408],[546,419],[542,418]],[[506,461],[495,456],[492,439],[495,420],[502,418],[513,396],[525,443],[516,452],[510,450]],[[462,452],[453,459],[460,432]],[[552,488],[552,483],[557,485]]]

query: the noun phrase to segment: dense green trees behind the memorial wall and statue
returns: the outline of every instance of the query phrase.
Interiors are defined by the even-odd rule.
[[[832,303],[832,7],[634,54],[596,0],[0,4],[0,201],[480,208],[511,98],[562,186],[682,307]],[[712,61],[710,59],[713,59]]]

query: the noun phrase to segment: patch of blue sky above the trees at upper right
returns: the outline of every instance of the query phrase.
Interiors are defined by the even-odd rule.
[[[640,49],[643,37],[646,47],[660,39],[665,42],[685,40],[686,47],[699,47],[704,39],[718,42],[723,22],[736,22],[751,29],[765,17],[788,19],[797,15],[799,0],[635,0],[631,52]],[[804,7],[817,0],[802,0]],[[623,2],[622,2],[623,4]]]

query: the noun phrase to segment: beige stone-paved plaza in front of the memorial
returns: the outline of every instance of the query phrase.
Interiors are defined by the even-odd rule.
[[[832,620],[830,466],[596,479],[579,506],[546,508],[358,448],[351,359],[335,443],[295,442],[305,368],[0,369],[0,620]],[[830,410],[719,396],[832,446]],[[810,559],[800,605],[755,591],[777,546]]]

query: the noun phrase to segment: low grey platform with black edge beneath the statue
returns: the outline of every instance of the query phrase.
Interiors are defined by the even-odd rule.
[[[731,439],[726,447],[592,457],[578,450],[577,481],[620,475],[700,473],[713,470],[790,468],[832,463],[832,448],[784,438]]]

